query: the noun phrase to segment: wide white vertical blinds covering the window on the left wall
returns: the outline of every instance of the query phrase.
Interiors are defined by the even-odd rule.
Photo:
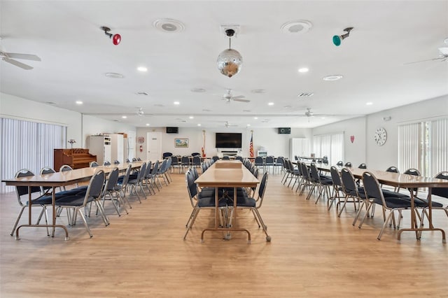
[[[53,166],[53,149],[65,148],[66,127],[0,118],[0,180],[13,178],[20,169],[39,173]],[[0,185],[0,193],[14,188]]]

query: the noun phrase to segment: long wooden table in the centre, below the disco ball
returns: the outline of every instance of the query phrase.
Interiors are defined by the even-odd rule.
[[[237,218],[237,187],[256,187],[258,185],[258,179],[253,176],[253,173],[246,169],[246,166],[239,160],[218,160],[207,171],[202,173],[195,180],[195,183],[200,187],[215,187],[215,225],[212,228],[206,228],[202,231],[201,241],[204,241],[204,233],[206,231],[222,231],[227,233],[244,231],[247,232],[248,242],[250,243],[251,233],[248,229],[218,226],[218,212],[220,212],[218,188],[233,187],[233,216]],[[225,239],[230,239],[229,235],[227,234]]]

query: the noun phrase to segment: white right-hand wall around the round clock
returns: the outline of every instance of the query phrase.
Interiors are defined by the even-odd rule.
[[[385,117],[391,117],[391,120],[384,121],[383,118]],[[389,166],[397,166],[398,164],[399,125],[407,122],[447,117],[448,95],[373,113],[362,118],[316,127],[312,134],[330,134],[344,131],[344,162],[351,162],[354,166],[365,162],[367,167],[372,169],[387,169]],[[378,127],[384,127],[387,132],[387,141],[383,146],[377,146],[373,139],[374,132]],[[351,135],[355,136],[353,143],[350,142]],[[405,171],[405,169],[399,170]]]

